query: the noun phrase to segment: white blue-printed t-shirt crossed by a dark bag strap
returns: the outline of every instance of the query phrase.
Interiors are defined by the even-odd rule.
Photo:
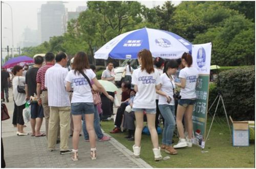
[[[84,70],[84,74],[90,79],[90,81],[96,77],[96,74],[92,69]],[[81,73],[76,72],[74,74],[74,70],[69,71],[66,81],[73,83],[73,96],[71,103],[93,103],[93,95],[91,87],[86,78],[83,77]]]

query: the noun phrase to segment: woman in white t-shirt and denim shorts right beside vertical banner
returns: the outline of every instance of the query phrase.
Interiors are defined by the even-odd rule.
[[[180,70],[179,78],[180,83],[176,83],[177,86],[181,87],[178,107],[177,107],[177,129],[179,132],[180,140],[174,148],[192,147],[193,145],[193,109],[196,103],[196,84],[198,79],[198,70],[191,67],[193,60],[189,53],[183,53],[181,57],[181,63],[185,67]],[[185,123],[187,126],[188,138],[185,139],[184,128],[182,124],[183,116],[185,117]]]

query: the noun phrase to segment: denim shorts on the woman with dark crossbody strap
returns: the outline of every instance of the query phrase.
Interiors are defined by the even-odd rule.
[[[94,114],[93,103],[71,103],[72,115]]]

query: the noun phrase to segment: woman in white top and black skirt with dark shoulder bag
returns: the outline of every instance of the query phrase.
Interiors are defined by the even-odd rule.
[[[17,105],[16,119],[17,119],[17,135],[29,135],[23,130],[24,119],[23,119],[23,109],[25,108],[26,103],[26,94],[25,94],[25,77],[23,74],[23,67],[16,65],[12,69],[14,78],[12,80],[12,90],[14,102]]]

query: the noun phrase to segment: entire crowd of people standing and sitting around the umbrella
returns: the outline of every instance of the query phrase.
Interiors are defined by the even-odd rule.
[[[154,159],[158,161],[162,159],[161,150],[177,154],[177,148],[192,146],[192,113],[198,71],[191,67],[193,61],[189,53],[184,53],[179,60],[165,61],[158,57],[153,61],[150,50],[142,49],[137,57],[139,68],[133,69],[127,62],[124,69],[121,104],[117,109],[115,127],[110,132],[121,132],[121,128],[128,130],[125,138],[135,142],[134,156],[139,158],[143,122],[146,121]],[[23,109],[29,102],[31,136],[46,136],[50,152],[55,151],[56,144],[60,143],[60,154],[73,153],[71,158],[77,161],[79,136],[83,131],[84,139],[90,142],[90,156],[94,160],[97,157],[96,135],[99,141],[110,140],[102,133],[100,120],[110,119],[113,115],[115,92],[102,87],[96,78],[96,68],[89,64],[86,53],[77,52],[68,69],[67,63],[65,52],[58,52],[56,56],[47,52],[45,63],[38,55],[30,69],[19,65],[13,67],[13,124],[17,125],[18,136],[29,135],[24,131],[23,119]],[[2,78],[11,81],[8,75],[2,69]],[[115,83],[112,62],[102,72],[101,79]],[[21,92],[22,87],[25,87],[24,92]],[[4,92],[8,102],[8,90],[2,80]],[[95,103],[94,94],[100,95],[101,103]],[[44,118],[46,133],[40,131]],[[161,146],[157,133],[159,119],[164,126]],[[176,124],[180,140],[173,146]],[[69,136],[72,136],[72,150],[68,147]]]

